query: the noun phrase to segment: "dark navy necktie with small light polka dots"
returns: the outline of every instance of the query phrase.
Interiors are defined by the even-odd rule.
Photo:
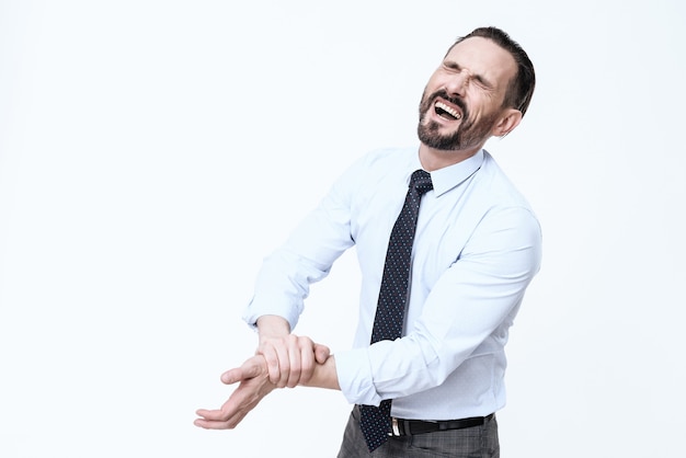
[[[371,343],[396,340],[402,335],[408,284],[410,282],[410,260],[416,217],[420,213],[422,195],[433,188],[428,172],[418,170],[412,173],[405,202],[390,233],[386,265],[381,278],[381,289],[374,318]],[[375,405],[361,407],[361,428],[369,447],[375,450],[388,439],[390,432],[390,399]]]

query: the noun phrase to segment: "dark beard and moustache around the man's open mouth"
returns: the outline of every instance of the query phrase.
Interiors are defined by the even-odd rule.
[[[441,124],[434,121],[426,122],[428,111],[435,110],[434,103],[436,98],[445,99],[459,106],[462,111],[462,121],[457,130],[441,134]],[[469,108],[464,100],[450,98],[445,91],[436,91],[431,95],[427,95],[426,91],[424,91],[422,101],[420,102],[420,123],[416,127],[416,133],[420,137],[420,141],[430,148],[457,151],[473,148],[485,142],[485,140],[491,137],[491,129],[496,118],[498,113],[491,113],[482,119],[473,119],[469,115]]]

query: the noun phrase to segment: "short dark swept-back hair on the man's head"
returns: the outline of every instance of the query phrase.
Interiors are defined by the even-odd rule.
[[[488,38],[495,43],[501,48],[505,49],[512,55],[517,65],[517,75],[510,81],[507,90],[505,92],[505,100],[503,106],[516,108],[522,112],[522,116],[526,113],[526,110],[531,102],[534,95],[534,88],[536,87],[536,73],[534,72],[534,64],[527,56],[526,51],[519,46],[517,42],[512,39],[510,35],[498,27],[479,27],[475,28],[468,35],[457,38],[457,41],[450,46],[450,49],[460,42],[475,36]],[[450,51],[448,49],[448,53]]]

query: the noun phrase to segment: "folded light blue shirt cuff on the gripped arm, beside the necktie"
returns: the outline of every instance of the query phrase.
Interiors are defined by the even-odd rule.
[[[379,405],[381,398],[374,387],[368,348],[335,353],[335,368],[341,392],[351,404]]]

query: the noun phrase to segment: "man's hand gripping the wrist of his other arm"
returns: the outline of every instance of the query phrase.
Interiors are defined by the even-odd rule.
[[[270,381],[278,388],[307,383],[316,364],[323,364],[331,354],[328,346],[310,337],[290,333],[288,321],[267,314],[258,319],[260,344],[256,354],[266,360]]]

